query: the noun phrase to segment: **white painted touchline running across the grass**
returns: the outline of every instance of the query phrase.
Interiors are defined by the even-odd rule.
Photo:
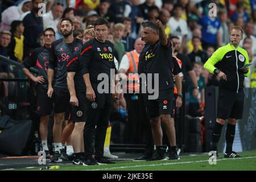
[[[217,159],[216,161],[220,160],[236,160],[236,159],[251,159],[256,158],[256,156],[246,157],[246,158],[227,158],[227,159]],[[101,168],[101,169],[88,169],[82,171],[101,171],[101,170],[111,170],[111,169],[123,169],[123,168],[135,168],[135,167],[148,167],[148,166],[167,166],[173,164],[186,164],[186,163],[202,163],[208,162],[208,160],[197,160],[197,161],[187,161],[187,162],[177,162],[177,163],[162,163],[162,164],[147,164],[147,165],[137,165],[137,166],[120,166],[120,167],[111,167],[111,168]]]

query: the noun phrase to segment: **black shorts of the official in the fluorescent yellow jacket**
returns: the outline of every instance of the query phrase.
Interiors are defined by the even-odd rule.
[[[238,93],[229,90],[218,89],[218,111],[217,118],[220,119],[242,119],[245,93],[241,90]]]

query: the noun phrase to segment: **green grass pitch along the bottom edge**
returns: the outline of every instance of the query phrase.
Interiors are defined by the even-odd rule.
[[[208,154],[180,156],[180,160],[162,160],[155,162],[133,162],[131,160],[115,161],[115,164],[98,166],[77,166],[72,164],[59,165],[59,169],[47,169],[47,171],[255,171],[256,170],[256,151],[240,152],[243,158],[228,159],[224,154],[220,154],[216,164],[209,164]],[[37,168],[22,168],[16,170],[40,170]]]

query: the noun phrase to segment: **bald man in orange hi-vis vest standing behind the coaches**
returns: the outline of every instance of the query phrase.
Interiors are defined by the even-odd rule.
[[[127,80],[127,86],[123,87],[123,93],[125,93],[128,110],[128,143],[142,143],[142,134],[146,123],[148,123],[148,127],[150,128],[150,122],[145,118],[146,109],[142,100],[142,94],[135,93],[136,91],[139,91],[139,85],[137,82],[138,63],[139,55],[141,54],[144,46],[145,42],[142,41],[141,38],[136,39],[134,43],[134,50],[126,52],[125,55],[123,55],[119,66],[119,77],[122,77],[122,80]]]

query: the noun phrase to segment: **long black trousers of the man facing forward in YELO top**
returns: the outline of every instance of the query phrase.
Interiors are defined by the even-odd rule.
[[[104,154],[104,142],[113,107],[112,94],[97,94],[96,102],[86,100],[86,121],[84,127],[85,158],[93,155],[93,138],[95,137],[95,155]]]

